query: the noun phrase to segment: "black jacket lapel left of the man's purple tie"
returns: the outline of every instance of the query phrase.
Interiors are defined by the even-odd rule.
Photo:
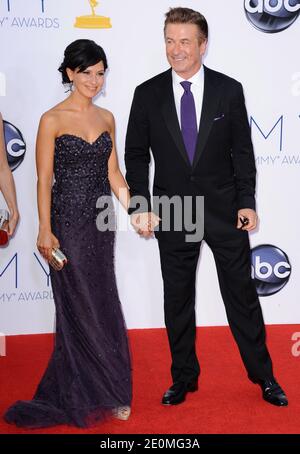
[[[162,100],[162,114],[166,125],[170,131],[170,134],[177,146],[181,156],[183,157],[185,163],[191,167],[184,141],[182,138],[179,121],[176,112],[175,100],[174,100],[174,93],[173,93],[173,85],[172,85],[172,70],[170,69],[166,73],[166,79],[164,83],[161,85],[161,91],[159,96]]]

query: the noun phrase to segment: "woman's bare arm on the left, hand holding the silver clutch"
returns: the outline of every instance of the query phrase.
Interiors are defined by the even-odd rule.
[[[39,234],[37,248],[46,260],[51,259],[52,248],[59,247],[58,239],[51,230],[51,189],[55,149],[55,121],[51,114],[41,118],[36,142],[37,198]]]

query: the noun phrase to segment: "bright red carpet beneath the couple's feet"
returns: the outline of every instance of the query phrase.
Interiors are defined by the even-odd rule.
[[[246,378],[227,327],[198,328],[199,391],[188,394],[182,405],[164,407],[160,399],[171,384],[166,332],[131,330],[134,400],[130,419],[110,420],[88,430],[58,426],[34,431],[8,425],[2,415],[15,400],[31,398],[48,362],[52,336],[10,336],[7,356],[0,357],[0,433],[300,433],[300,356],[291,353],[292,334],[299,331],[299,325],[267,327],[275,376],[288,395],[288,407],[263,401],[260,388]]]

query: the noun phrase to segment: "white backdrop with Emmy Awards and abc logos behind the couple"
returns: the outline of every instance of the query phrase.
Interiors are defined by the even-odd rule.
[[[57,71],[65,47],[89,38],[107,53],[109,70],[96,103],[115,115],[125,172],[133,92],[168,68],[164,14],[175,6],[206,16],[210,38],[205,64],[244,86],[258,171],[253,279],[266,323],[300,322],[300,1],[0,0],[0,111],[21,213],[15,237],[0,249],[0,332],[54,329],[49,268],[36,249],[35,139],[41,114],[67,96]],[[127,326],[164,326],[157,242],[128,230],[126,213],[117,203],[116,211],[115,267]],[[227,324],[205,244],[198,266],[197,324]]]

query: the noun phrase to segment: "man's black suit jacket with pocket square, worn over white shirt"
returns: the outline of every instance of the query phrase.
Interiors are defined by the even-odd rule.
[[[204,66],[203,105],[193,164],[185,150],[169,69],[139,85],[126,135],[126,180],[131,196],[203,195],[205,230],[236,230],[237,211],[255,209],[255,161],[242,85]],[[233,230],[232,230],[233,231]]]

